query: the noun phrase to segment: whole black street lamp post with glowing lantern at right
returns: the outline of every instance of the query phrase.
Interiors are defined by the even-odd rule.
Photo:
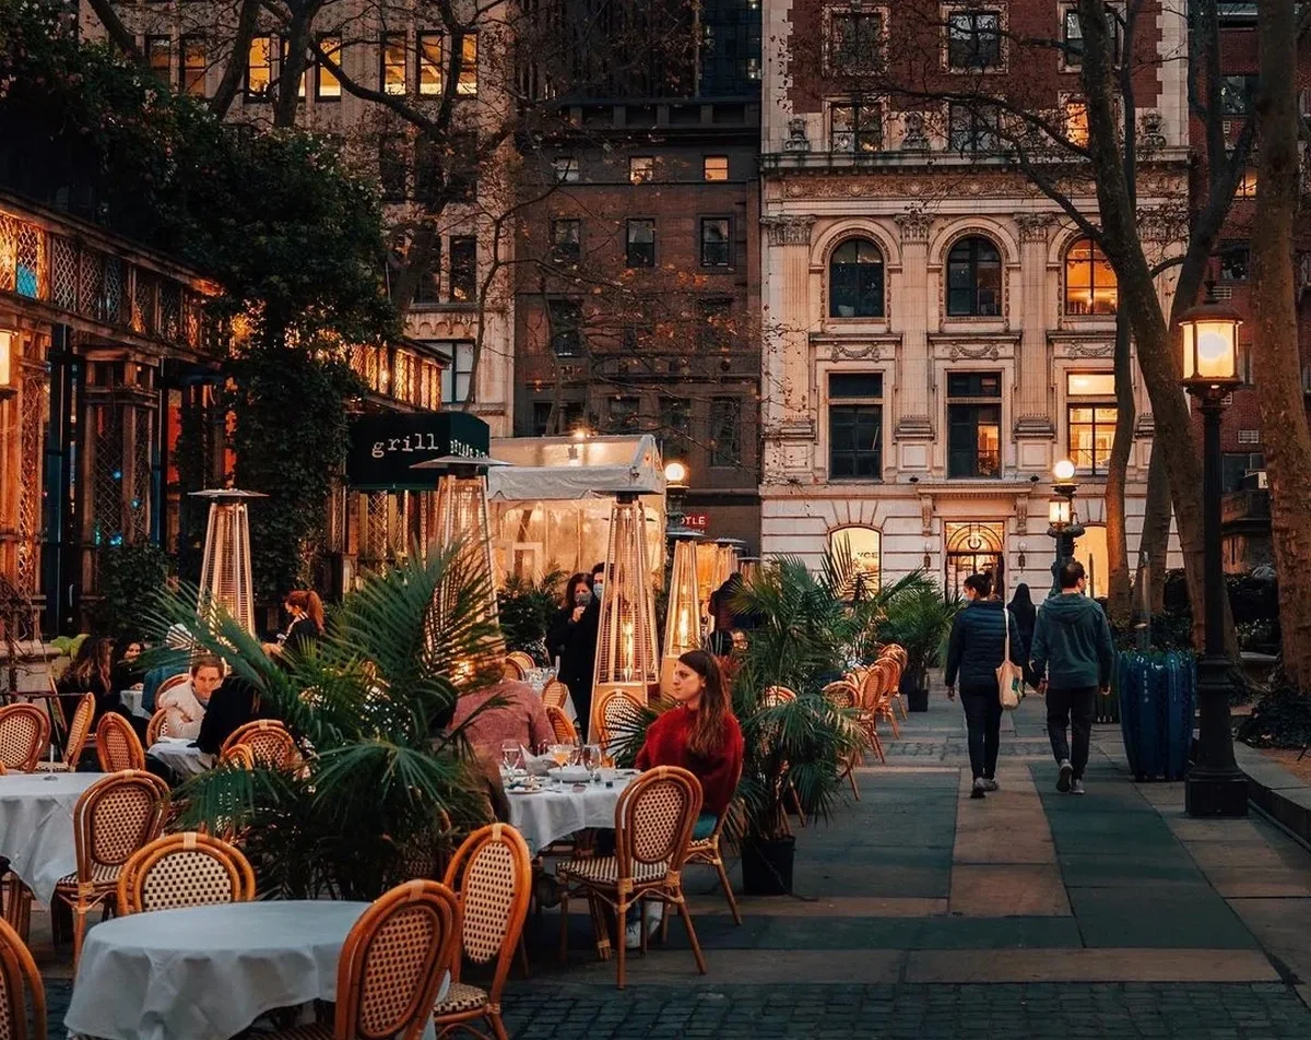
[[[1197,666],[1197,761],[1184,784],[1189,816],[1247,816],[1247,776],[1234,761],[1230,729],[1228,658],[1224,656],[1224,574],[1221,557],[1221,416],[1238,375],[1238,312],[1215,300],[1185,311],[1179,325],[1184,344],[1184,388],[1202,413],[1202,539],[1205,551],[1206,647]]]

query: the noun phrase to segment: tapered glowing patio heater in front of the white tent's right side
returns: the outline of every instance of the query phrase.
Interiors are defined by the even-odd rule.
[[[646,510],[636,492],[621,490],[610,510],[610,547],[600,598],[593,704],[607,690],[623,690],[646,704],[659,682],[656,601],[646,556]]]

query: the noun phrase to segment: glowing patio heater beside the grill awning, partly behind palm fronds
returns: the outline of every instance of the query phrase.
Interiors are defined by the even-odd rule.
[[[464,610],[460,610],[454,582],[443,582],[433,597],[433,612],[429,620],[430,633],[455,620],[471,626],[489,626],[493,630],[480,640],[472,660],[451,662],[451,677],[456,683],[473,678],[480,668],[505,653],[505,637],[501,633],[501,618],[496,598],[496,572],[492,565],[492,523],[488,517],[486,472],[492,466],[507,464],[485,455],[440,455],[410,467],[412,470],[440,473],[437,481],[437,517],[433,542],[440,551],[446,551],[459,542],[460,553],[455,560],[455,573],[464,577],[475,574],[482,577],[479,601],[465,605]],[[456,614],[459,614],[458,619]]]

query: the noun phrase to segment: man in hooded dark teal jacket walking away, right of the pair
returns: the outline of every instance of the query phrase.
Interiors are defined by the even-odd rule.
[[[1059,767],[1057,791],[1082,795],[1096,696],[1110,687],[1116,648],[1105,612],[1084,594],[1088,576],[1083,564],[1070,560],[1057,578],[1061,591],[1047,597],[1033,627],[1032,669],[1047,698],[1047,736]],[[1072,751],[1067,730],[1074,737]]]

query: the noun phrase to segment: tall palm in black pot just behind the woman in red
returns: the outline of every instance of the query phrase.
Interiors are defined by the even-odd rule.
[[[739,609],[756,627],[739,653],[733,711],[746,745],[733,833],[749,894],[792,890],[796,839],[787,808],[827,818],[839,797],[840,763],[859,744],[855,720],[822,695],[840,670],[857,616],[800,560],[780,560],[746,582]],[[770,689],[797,694],[779,702]]]

